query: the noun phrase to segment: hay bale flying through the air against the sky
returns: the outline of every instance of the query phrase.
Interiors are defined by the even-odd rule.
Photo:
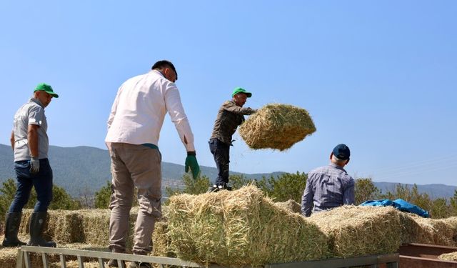
[[[241,138],[251,149],[283,151],[316,131],[305,109],[286,104],[267,104],[239,127]]]

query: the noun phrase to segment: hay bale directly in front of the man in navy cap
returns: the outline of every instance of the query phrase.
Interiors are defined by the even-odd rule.
[[[334,257],[388,254],[398,250],[400,222],[393,207],[343,206],[311,214],[328,235]]]

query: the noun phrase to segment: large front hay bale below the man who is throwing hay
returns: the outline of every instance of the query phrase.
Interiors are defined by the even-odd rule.
[[[170,198],[169,236],[179,258],[228,267],[327,257],[316,224],[279,209],[260,189]]]

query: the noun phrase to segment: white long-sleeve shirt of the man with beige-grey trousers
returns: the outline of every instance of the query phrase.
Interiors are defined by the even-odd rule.
[[[167,111],[186,150],[195,151],[194,134],[179,90],[156,70],[135,76],[121,85],[109,114],[105,142],[159,145]]]

